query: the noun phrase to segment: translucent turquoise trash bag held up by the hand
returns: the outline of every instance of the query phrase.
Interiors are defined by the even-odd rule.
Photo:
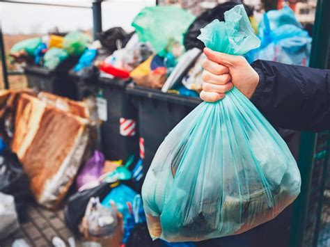
[[[210,49],[242,55],[260,45],[242,5],[201,29]],[[191,111],[160,145],[142,188],[152,238],[201,241],[276,217],[300,192],[288,146],[233,88]]]

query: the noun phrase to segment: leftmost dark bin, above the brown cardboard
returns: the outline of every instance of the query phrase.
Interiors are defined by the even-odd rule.
[[[68,71],[77,63],[78,58],[71,57],[63,61],[55,70],[48,70],[45,67],[27,65],[24,67],[29,88],[54,93],[70,99],[77,99],[77,88]]]

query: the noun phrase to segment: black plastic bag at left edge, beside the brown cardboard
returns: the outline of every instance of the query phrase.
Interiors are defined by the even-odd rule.
[[[17,155],[3,150],[0,156],[0,192],[15,198],[15,207],[20,221],[24,221],[26,202],[31,198],[29,177],[19,163]]]

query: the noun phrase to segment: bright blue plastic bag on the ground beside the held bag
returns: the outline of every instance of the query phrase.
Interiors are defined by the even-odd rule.
[[[125,244],[134,225],[146,222],[146,216],[143,211],[141,196],[124,184],[113,188],[111,192],[102,200],[102,205],[111,207],[113,201],[118,211],[123,214]]]

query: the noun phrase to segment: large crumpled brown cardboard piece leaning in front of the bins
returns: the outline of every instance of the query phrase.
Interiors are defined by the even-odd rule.
[[[86,106],[48,93],[12,92],[1,110],[11,114],[10,148],[29,176],[33,196],[45,207],[58,207],[93,146]]]

